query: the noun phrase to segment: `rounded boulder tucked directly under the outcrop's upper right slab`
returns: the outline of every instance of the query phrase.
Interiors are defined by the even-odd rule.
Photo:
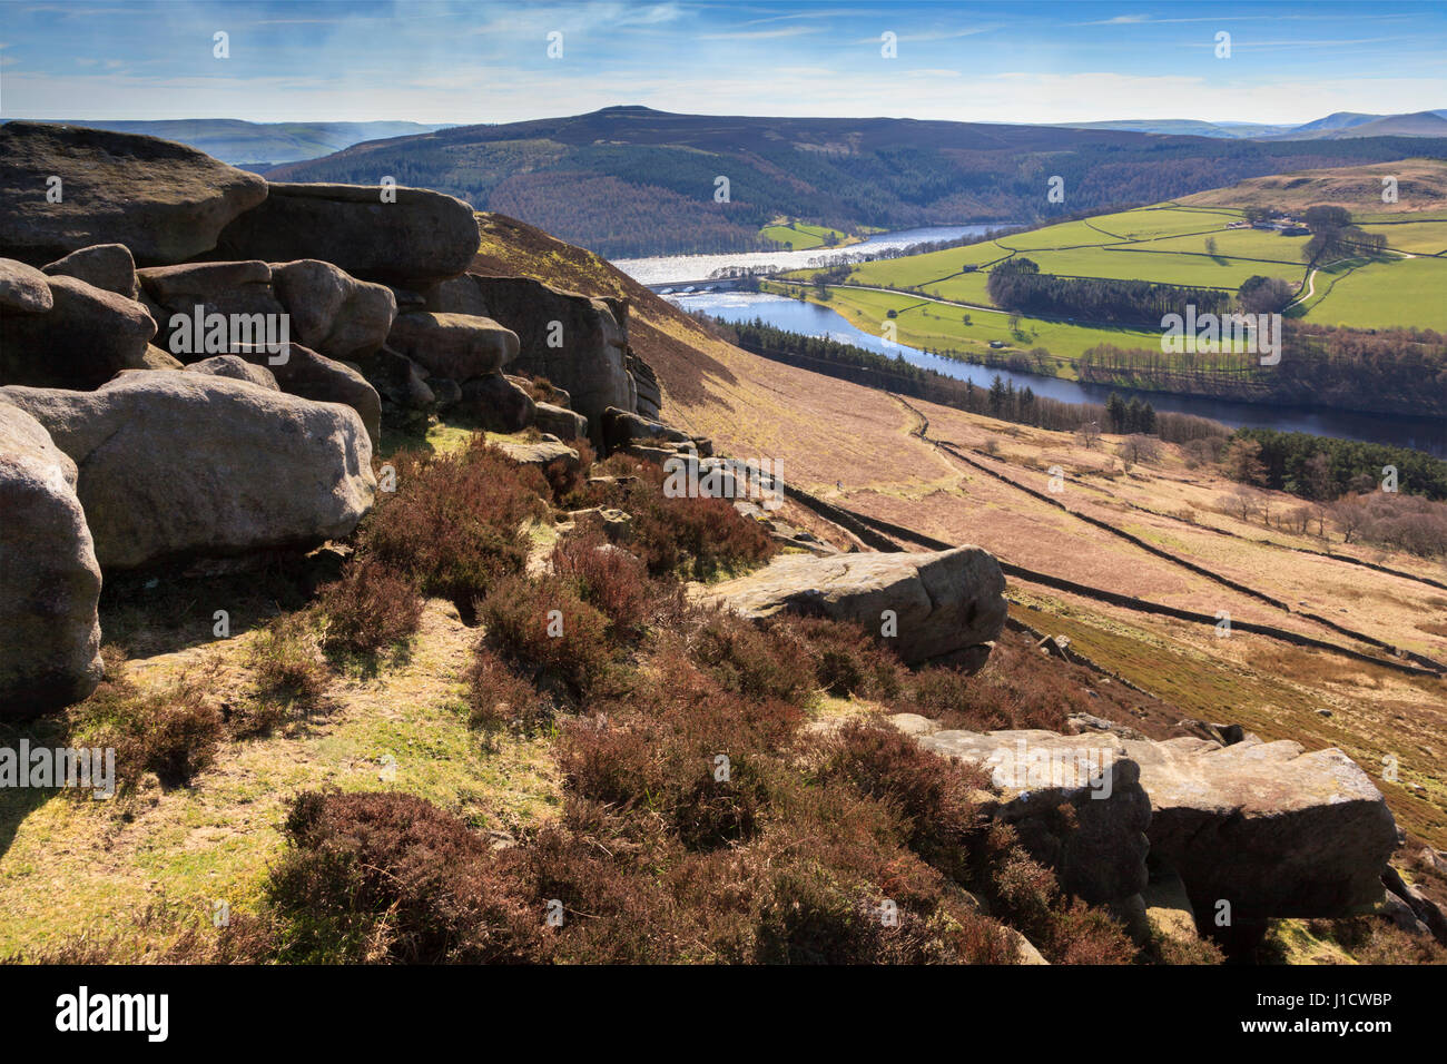
[[[272,291],[291,314],[292,339],[333,359],[370,355],[396,318],[391,288],[357,281],[330,262],[273,263]]]

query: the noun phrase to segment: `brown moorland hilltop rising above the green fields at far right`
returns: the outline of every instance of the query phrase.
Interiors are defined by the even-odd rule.
[[[1382,203],[1382,178],[1396,178],[1398,201]],[[1305,178],[1305,180],[1304,180]],[[1357,213],[1409,214],[1447,206],[1447,162],[1402,159],[1366,166],[1327,166],[1249,178],[1229,188],[1182,195],[1189,207],[1281,207],[1337,204]],[[1370,204],[1363,207],[1363,204]]]

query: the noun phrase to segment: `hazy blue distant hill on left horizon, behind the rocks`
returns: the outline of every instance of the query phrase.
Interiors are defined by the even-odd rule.
[[[75,119],[55,124],[90,126],[117,133],[142,133],[178,140],[234,165],[276,165],[314,159],[362,140],[428,133],[444,126],[418,122],[240,122],[234,119],[177,119],[169,122],[93,122]]]

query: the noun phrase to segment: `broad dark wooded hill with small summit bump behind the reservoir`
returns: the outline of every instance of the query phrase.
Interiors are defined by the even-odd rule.
[[[1447,138],[1295,145],[1114,129],[606,107],[360,143],[275,166],[266,177],[373,184],[394,175],[619,258],[757,248],[758,230],[780,216],[846,233],[862,226],[1032,221],[1159,203],[1265,174],[1434,151],[1447,153]],[[1064,182],[1064,203],[1048,200],[1053,177]],[[728,181],[728,201],[719,178]]]

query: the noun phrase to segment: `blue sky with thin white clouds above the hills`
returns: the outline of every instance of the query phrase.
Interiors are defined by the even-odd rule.
[[[621,103],[967,122],[1428,110],[1447,107],[1447,4],[0,0],[7,119],[472,123]]]

